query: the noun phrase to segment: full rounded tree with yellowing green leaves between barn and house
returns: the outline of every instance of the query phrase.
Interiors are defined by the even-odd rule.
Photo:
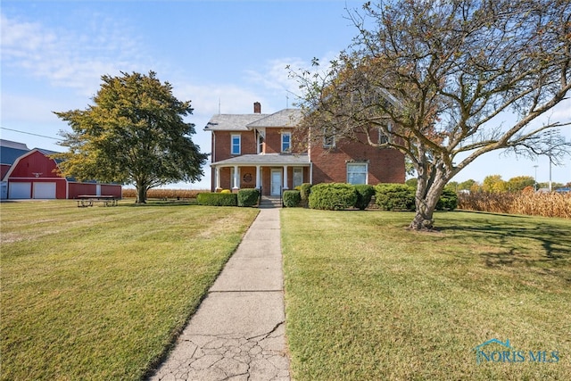
[[[54,155],[62,175],[132,184],[137,203],[155,186],[203,176],[208,155],[191,140],[194,124],[183,120],[193,112],[190,101],[179,101],[153,71],[102,80],[86,110],[55,112],[72,129],[60,133],[68,152]]]

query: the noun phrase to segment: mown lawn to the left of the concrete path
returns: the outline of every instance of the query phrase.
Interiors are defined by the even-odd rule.
[[[1,204],[1,379],[140,379],[257,211]]]

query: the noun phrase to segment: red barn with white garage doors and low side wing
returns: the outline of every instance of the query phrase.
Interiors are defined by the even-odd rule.
[[[113,195],[120,198],[120,185],[78,182],[74,178],[58,176],[57,162],[49,157],[53,153],[35,148],[18,157],[4,174],[7,198],[70,199],[79,195]]]

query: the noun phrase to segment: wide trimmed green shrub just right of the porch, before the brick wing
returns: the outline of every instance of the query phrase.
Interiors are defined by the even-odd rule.
[[[311,186],[310,208],[341,211],[357,202],[357,191],[351,184],[331,183]]]

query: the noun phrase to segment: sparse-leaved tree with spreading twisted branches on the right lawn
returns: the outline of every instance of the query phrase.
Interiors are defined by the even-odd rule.
[[[535,122],[571,88],[568,0],[368,2],[348,15],[352,46],[326,70],[291,70],[302,128],[405,153],[418,175],[410,228],[433,228],[443,187],[484,153],[568,150],[543,138],[568,120]]]

